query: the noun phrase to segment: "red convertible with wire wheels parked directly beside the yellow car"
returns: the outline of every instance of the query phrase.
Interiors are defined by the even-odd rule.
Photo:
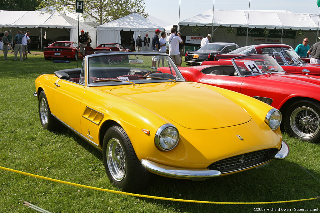
[[[179,70],[186,80],[233,90],[279,109],[283,130],[303,140],[320,141],[320,77],[288,74],[265,54],[211,64]]]

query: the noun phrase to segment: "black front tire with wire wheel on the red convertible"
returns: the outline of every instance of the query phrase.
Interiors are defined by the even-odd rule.
[[[320,141],[320,104],[313,101],[293,103],[285,113],[284,129],[304,141]]]

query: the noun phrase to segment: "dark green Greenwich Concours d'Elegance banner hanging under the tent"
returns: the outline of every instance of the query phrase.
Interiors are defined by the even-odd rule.
[[[269,30],[269,34],[267,37],[269,38],[281,38],[281,33],[282,33],[282,29],[279,30]],[[247,29],[245,28],[237,28],[237,35],[243,35],[246,36],[247,35]],[[265,35],[265,29],[249,29],[248,32],[248,36],[253,36],[253,37],[266,37]],[[284,29],[284,34],[283,34],[283,38],[295,38],[296,37],[296,31],[289,31],[289,30],[285,30]]]

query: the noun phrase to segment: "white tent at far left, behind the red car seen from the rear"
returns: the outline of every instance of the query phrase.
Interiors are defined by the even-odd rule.
[[[30,30],[30,35],[42,35],[46,39],[59,36],[70,36],[71,41],[77,42],[80,30],[88,31],[92,39],[92,47],[96,47],[96,29],[87,24],[72,19],[58,11],[4,11],[0,10],[0,28],[11,31],[12,35],[20,30]],[[37,30],[35,30],[36,28]],[[36,32],[38,31],[38,32]]]

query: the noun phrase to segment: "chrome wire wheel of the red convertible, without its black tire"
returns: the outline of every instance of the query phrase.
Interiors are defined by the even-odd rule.
[[[319,115],[315,110],[302,106],[292,112],[290,126],[293,132],[300,137],[311,138],[319,132],[319,120]]]

